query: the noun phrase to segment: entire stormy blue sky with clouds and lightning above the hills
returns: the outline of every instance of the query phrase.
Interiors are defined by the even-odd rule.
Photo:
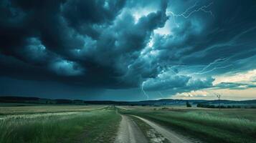
[[[255,0],[1,0],[0,95],[256,98]]]

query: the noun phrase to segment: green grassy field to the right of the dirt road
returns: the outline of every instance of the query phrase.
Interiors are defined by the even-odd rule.
[[[256,142],[256,109],[120,107],[203,142]]]

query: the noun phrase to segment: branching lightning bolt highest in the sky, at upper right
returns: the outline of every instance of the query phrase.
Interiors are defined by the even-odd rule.
[[[208,14],[211,14],[213,17],[214,17],[214,14],[212,13],[212,11],[207,11],[207,8],[209,6],[211,6],[213,4],[213,2],[209,3],[208,5],[204,5],[204,6],[201,6],[197,9],[196,6],[197,6],[198,2],[196,1],[196,3],[193,5],[193,6],[190,6],[188,9],[186,9],[186,11],[184,11],[183,13],[181,14],[175,14],[173,11],[166,11],[166,14],[170,14],[173,19],[174,19],[174,24],[176,24],[176,26],[179,27],[179,24],[176,23],[176,18],[177,17],[183,17],[184,19],[188,19],[189,16],[191,16],[192,14],[194,14],[195,12],[198,12],[198,11],[203,11],[205,13],[208,13]],[[193,11],[191,11],[191,9],[194,9]],[[189,12],[190,11],[190,12]]]

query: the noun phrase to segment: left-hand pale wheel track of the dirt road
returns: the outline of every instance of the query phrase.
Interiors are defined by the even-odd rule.
[[[129,117],[122,116],[115,143],[146,143],[147,139],[137,124]]]

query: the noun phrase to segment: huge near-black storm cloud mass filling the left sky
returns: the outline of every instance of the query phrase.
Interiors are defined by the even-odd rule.
[[[71,79],[70,82],[80,84],[122,86],[115,85],[115,77],[123,74],[118,71],[123,68],[116,65],[118,60],[143,49],[151,31],[163,26],[167,19],[166,4],[156,13],[143,16],[138,24],[133,23],[128,12],[118,19],[116,16],[124,5],[125,1],[2,1],[1,64],[6,70],[1,73],[10,76],[11,71],[11,76],[27,77],[15,73],[15,67],[5,67],[9,59],[14,59],[29,66],[24,67],[27,74],[32,74],[29,79]],[[129,16],[130,27],[123,29],[129,25],[125,23]],[[80,33],[81,27],[90,26],[102,30],[98,39],[90,33]],[[104,29],[97,29],[100,26]],[[59,77],[65,75],[82,77]]]

